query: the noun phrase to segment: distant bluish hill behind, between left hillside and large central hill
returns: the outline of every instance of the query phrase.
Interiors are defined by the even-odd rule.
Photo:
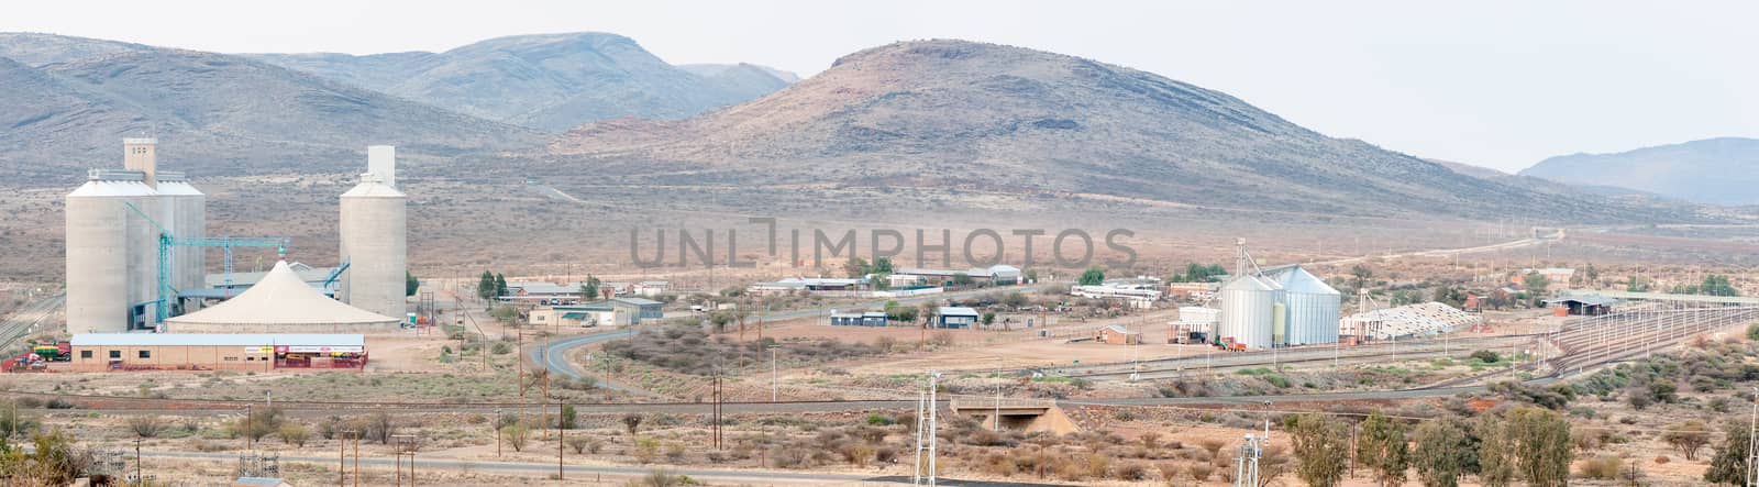
[[[489,39],[445,53],[250,55],[436,107],[561,132],[588,121],[675,120],[744,102],[788,81],[753,65],[693,72],[614,33]]]

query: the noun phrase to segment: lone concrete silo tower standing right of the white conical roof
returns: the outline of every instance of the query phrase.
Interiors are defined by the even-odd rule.
[[[368,148],[368,172],[341,195],[341,258],[348,273],[338,294],[345,302],[385,316],[408,313],[406,199],[396,188],[394,148]]]

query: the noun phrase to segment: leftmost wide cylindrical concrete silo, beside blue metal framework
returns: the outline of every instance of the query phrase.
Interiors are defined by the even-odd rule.
[[[67,193],[67,331],[123,332],[137,304],[151,292],[158,239],[151,223],[125,204],[142,206],[157,193],[135,171],[99,171]],[[142,207],[142,211],[150,211]],[[148,213],[153,214],[153,213]],[[150,241],[151,253],[142,253]],[[148,278],[142,287],[142,274]],[[153,308],[141,309],[151,322]]]

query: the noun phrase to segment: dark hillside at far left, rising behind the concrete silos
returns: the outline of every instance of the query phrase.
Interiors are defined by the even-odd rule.
[[[121,49],[42,67],[0,60],[0,167],[25,181],[109,167],[120,137],[157,134],[176,169],[331,172],[368,144],[412,156],[524,148],[535,132],[239,56]]]

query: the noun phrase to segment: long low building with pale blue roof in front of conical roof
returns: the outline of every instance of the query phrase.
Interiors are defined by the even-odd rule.
[[[362,369],[359,334],[76,334],[72,371]]]

